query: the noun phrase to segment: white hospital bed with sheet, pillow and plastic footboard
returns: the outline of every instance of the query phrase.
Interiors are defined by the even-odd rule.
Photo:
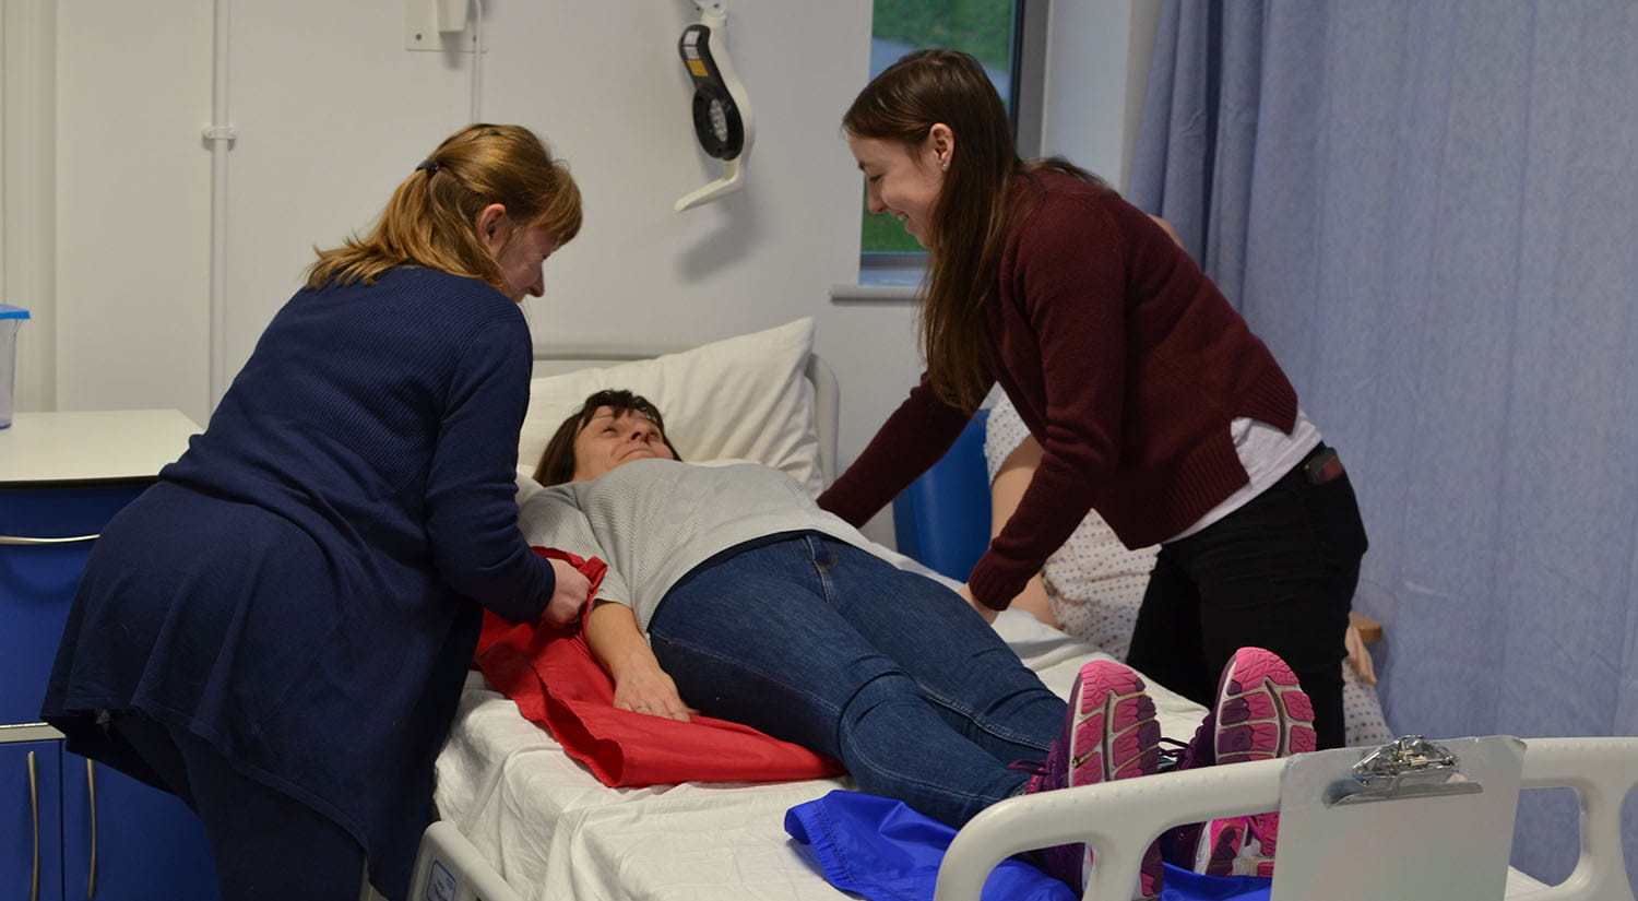
[[[834,477],[837,392],[834,375],[811,355],[811,341],[812,326],[804,319],[683,354],[642,360],[632,360],[631,351],[549,351],[542,354],[547,359],[537,369],[541,377],[531,396],[519,467],[534,464],[545,436],[588,393],[604,387],[629,387],[647,395],[667,414],[673,426],[670,437],[685,459],[757,459],[817,488]],[[708,444],[711,441],[714,444]],[[937,541],[932,536],[921,537],[924,542]],[[921,567],[885,547],[880,550],[899,565]],[[1060,695],[1068,693],[1079,665],[1097,654],[1024,613],[1004,613],[996,627]],[[1204,711],[1161,686],[1150,688],[1161,731],[1181,739],[1192,736]],[[1638,739],[1545,739],[1527,745],[1528,750],[1517,750],[1522,765],[1517,767],[1515,781],[1528,786],[1568,785],[1581,793],[1584,853],[1574,875],[1551,888],[1507,868],[1507,894],[1538,891],[1533,898],[1540,901],[1633,901],[1622,863],[1620,806],[1638,780]],[[1512,747],[1509,744],[1502,750],[1509,752]],[[1299,757],[1325,755],[1356,758],[1364,750]],[[1338,762],[1338,767],[1343,763]],[[1097,855],[1086,896],[1125,899],[1129,890],[1122,886],[1133,885],[1140,853],[1153,835],[1171,824],[1212,816],[1274,808],[1289,811],[1292,799],[1281,791],[1286,776],[1286,762],[1269,760],[1083,786],[996,804],[957,835],[939,878],[937,898],[976,899],[989,870],[1007,855],[1084,840],[1093,844]],[[1489,799],[1505,795],[1505,778],[1489,781]],[[808,849],[791,840],[783,829],[786,809],[837,788],[852,785],[840,776],[783,783],[606,788],[568,757],[549,732],[526,721],[516,704],[490,690],[482,675],[470,673],[449,742],[437,760],[436,804],[441,819],[426,831],[411,899],[857,898],[832,888]],[[1512,791],[1517,791],[1517,785]],[[1468,798],[1405,799],[1376,808],[1407,811],[1394,829],[1415,837],[1420,819],[1437,821],[1412,809],[1415,804],[1466,801]],[[1486,831],[1476,827],[1458,832],[1477,835]],[[1350,867],[1361,873],[1355,880],[1358,885],[1381,878],[1384,867],[1373,857],[1369,844],[1345,860],[1317,870],[1330,880],[1324,893],[1302,883],[1304,876],[1312,878],[1314,868],[1291,865],[1292,875],[1287,878],[1287,855],[1302,850],[1296,847],[1297,839],[1289,835],[1292,832],[1287,827],[1281,835],[1274,901],[1348,898],[1346,893],[1335,891],[1335,880],[1348,880]],[[1445,837],[1422,835],[1428,842]],[[1510,844],[1510,826],[1505,844]],[[1491,857],[1504,867],[1505,849],[1499,852],[1500,857],[1495,853],[1492,847]],[[1314,852],[1315,860],[1325,855],[1324,847]],[[1473,855],[1451,858],[1468,860]],[[1423,883],[1423,888],[1428,885],[1432,883]]]

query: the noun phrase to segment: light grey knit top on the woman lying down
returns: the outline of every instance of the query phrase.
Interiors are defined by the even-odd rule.
[[[629,606],[644,634],[678,580],[747,541],[811,529],[870,550],[799,482],[762,464],[632,460],[591,482],[524,490],[519,500],[524,539],[606,562],[596,600]]]

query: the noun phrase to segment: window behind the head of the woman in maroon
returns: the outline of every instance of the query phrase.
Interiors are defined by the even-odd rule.
[[[1012,115],[1019,152],[1034,156],[1040,143],[1040,48],[1045,34],[1045,0],[1035,0],[1025,15],[1025,0],[875,0],[870,39],[870,77],[919,48],[953,48],[978,57],[989,70],[1002,103]],[[1022,128],[1020,128],[1022,125]],[[925,251],[891,216],[875,216],[865,208],[860,270],[921,277]]]

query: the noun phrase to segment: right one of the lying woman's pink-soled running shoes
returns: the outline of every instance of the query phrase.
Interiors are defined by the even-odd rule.
[[[1271,650],[1242,647],[1217,681],[1217,703],[1183,750],[1179,770],[1314,750],[1314,704]],[[1181,826],[1168,857],[1210,876],[1273,876],[1279,813]]]

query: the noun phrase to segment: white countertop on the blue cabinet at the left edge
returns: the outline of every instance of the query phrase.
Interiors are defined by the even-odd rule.
[[[15,413],[0,429],[0,485],[151,478],[200,431],[179,410]]]

